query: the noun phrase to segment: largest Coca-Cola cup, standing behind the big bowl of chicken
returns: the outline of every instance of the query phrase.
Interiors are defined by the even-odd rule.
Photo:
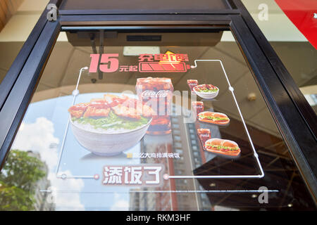
[[[173,84],[170,78],[147,77],[137,79],[137,96],[155,112],[147,134],[170,134],[170,115],[173,103]]]

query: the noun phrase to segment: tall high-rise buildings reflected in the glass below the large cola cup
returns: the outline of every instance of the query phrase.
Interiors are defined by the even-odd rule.
[[[144,159],[142,163],[163,164],[165,173],[169,175],[190,175],[201,165],[197,135],[194,127],[191,127],[194,124],[185,124],[181,116],[172,116],[170,120],[171,136],[148,136],[149,141],[147,136],[144,137],[142,151],[178,153],[180,158],[150,158]],[[210,210],[211,205],[206,194],[195,193],[197,190],[199,184],[194,179],[168,179],[163,181],[161,188],[155,188],[156,193],[149,192],[149,188],[142,188],[140,192],[133,190],[134,192],[130,193],[130,210]]]

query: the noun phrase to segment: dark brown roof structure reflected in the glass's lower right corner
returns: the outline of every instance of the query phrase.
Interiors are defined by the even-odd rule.
[[[220,134],[223,139],[230,139],[239,143],[242,150],[249,147],[249,141],[243,138],[242,132],[239,132],[241,122],[231,118],[231,129],[221,129]],[[211,201],[213,210],[259,210],[263,207],[266,210],[301,210],[307,207],[314,209],[313,202],[308,191],[302,186],[302,178],[296,166],[290,158],[287,147],[282,139],[277,136],[261,131],[256,127],[248,126],[250,136],[254,143],[254,148],[259,154],[259,159],[264,170],[265,176],[262,179],[199,179],[199,184],[206,190],[240,190],[237,193],[208,193],[208,199]],[[240,129],[241,130],[241,129]],[[273,143],[267,145],[267,139]],[[209,160],[200,167],[194,169],[195,175],[210,175],[217,172],[235,172],[242,168],[245,172],[255,173],[254,158],[248,155],[242,155],[239,160],[232,160],[230,163]],[[269,205],[259,203],[259,193],[250,193],[247,191],[257,191],[260,187],[266,187],[268,190],[276,191],[268,193]],[[244,192],[244,190],[247,190]],[[300,202],[298,199],[302,200]],[[269,207],[268,207],[269,206]]]

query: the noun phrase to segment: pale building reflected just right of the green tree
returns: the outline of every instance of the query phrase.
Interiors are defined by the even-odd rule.
[[[39,153],[32,152],[32,150],[27,151],[27,154],[41,160]],[[35,211],[51,211],[54,210],[54,204],[51,203],[48,198],[49,193],[48,192],[43,192],[41,190],[47,190],[49,186],[51,186],[51,183],[47,179],[47,175],[49,173],[49,168],[47,167],[46,163],[43,163],[43,167],[39,168],[42,171],[45,172],[46,176],[44,176],[42,179],[37,181],[35,184],[33,190],[35,191],[34,193],[34,207]]]

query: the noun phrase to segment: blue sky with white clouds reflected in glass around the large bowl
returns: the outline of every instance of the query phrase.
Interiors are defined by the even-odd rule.
[[[89,102],[91,98],[103,98],[104,93],[80,94],[77,96],[75,103]],[[23,126],[29,127],[29,134],[23,139],[23,130],[19,130],[18,136],[15,139],[15,146],[19,146],[22,150],[35,150],[41,154],[42,160],[49,165],[49,179],[51,186],[58,191],[56,198],[62,200],[56,201],[57,210],[77,210],[77,205],[81,204],[86,210],[128,210],[129,205],[129,190],[135,187],[129,186],[104,186],[103,167],[106,165],[135,165],[139,164],[139,159],[129,159],[126,153],[139,153],[140,144],[128,149],[125,153],[112,157],[101,157],[90,153],[88,150],[80,146],[73,136],[71,127],[68,128],[63,155],[61,157],[61,165],[58,169],[58,174],[65,172],[68,176],[94,176],[99,174],[99,180],[94,179],[56,179],[55,170],[58,161],[58,155],[61,153],[63,136],[68,123],[69,114],[68,108],[73,102],[73,96],[61,96],[59,98],[51,98],[45,101],[39,101],[29,105],[27,113],[23,120]],[[213,111],[213,109],[209,109]],[[45,119],[44,119],[45,118]],[[41,120],[39,120],[41,119]],[[51,125],[52,129],[46,129]],[[201,124],[204,128],[205,124]],[[36,128],[37,131],[32,129]],[[211,126],[211,133],[214,137],[220,138],[218,127]],[[27,132],[27,131],[25,131]],[[51,137],[47,138],[46,134],[39,132],[51,133]],[[154,136],[145,136],[144,144],[149,141],[154,143]],[[23,149],[28,139],[32,139],[32,143],[28,145],[28,149]],[[42,139],[42,140],[38,140]],[[161,140],[161,139],[160,139]],[[172,141],[166,139],[165,141]],[[41,142],[39,144],[39,142]],[[51,143],[56,143],[56,149],[50,149]],[[45,147],[47,146],[47,148]],[[46,149],[44,149],[46,148]],[[54,150],[56,152],[54,152]],[[49,153],[48,153],[49,152]],[[205,153],[206,160],[209,161],[215,155]],[[185,174],[191,175],[191,174]]]

